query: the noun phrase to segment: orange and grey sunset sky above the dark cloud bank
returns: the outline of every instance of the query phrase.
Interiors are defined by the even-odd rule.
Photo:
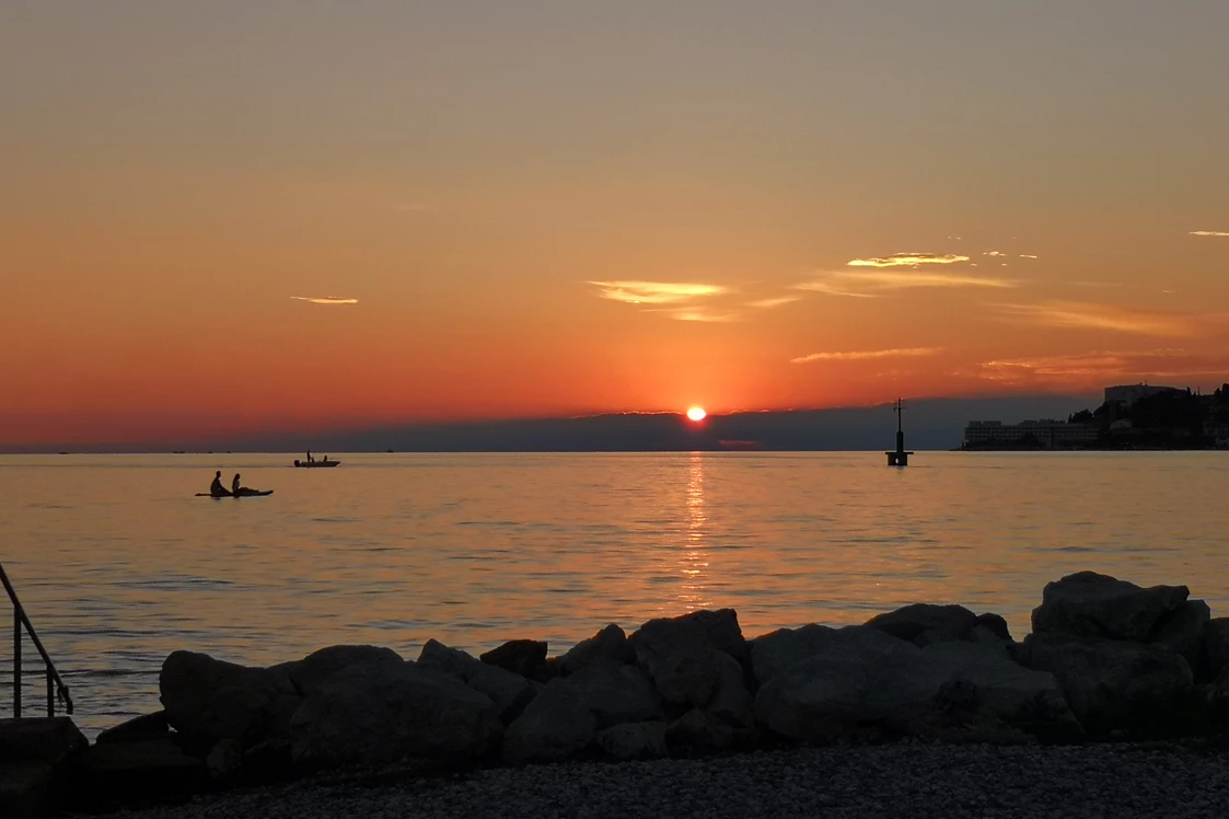
[[[1224,0],[10,0],[0,443],[1217,386],[1225,32]]]

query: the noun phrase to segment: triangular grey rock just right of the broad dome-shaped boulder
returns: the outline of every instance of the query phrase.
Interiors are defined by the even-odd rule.
[[[551,680],[504,734],[504,761],[522,765],[574,756],[594,742],[597,719],[567,678]]]

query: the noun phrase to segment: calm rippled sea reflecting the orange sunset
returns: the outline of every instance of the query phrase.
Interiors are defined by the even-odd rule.
[[[1085,568],[1186,583],[1229,614],[1225,454],[337,456],[0,457],[0,561],[87,733],[156,710],[176,648],[563,651],[701,607],[737,609],[753,636],[911,601],[997,611],[1021,636],[1042,585]],[[215,469],[275,493],[193,497]]]

